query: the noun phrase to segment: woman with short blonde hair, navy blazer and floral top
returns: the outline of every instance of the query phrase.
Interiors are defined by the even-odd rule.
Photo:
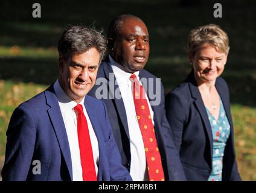
[[[228,35],[219,26],[191,30],[188,59],[193,70],[165,98],[167,119],[187,180],[241,180],[228,85],[220,77],[228,52]]]

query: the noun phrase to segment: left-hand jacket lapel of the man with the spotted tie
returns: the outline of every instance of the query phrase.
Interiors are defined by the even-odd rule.
[[[118,84],[115,84],[114,85],[114,90],[113,89],[110,89],[112,87],[112,85],[110,85],[109,81],[110,81],[110,73],[112,73],[112,75],[114,75],[114,72],[113,72],[113,69],[111,67],[111,64],[109,61],[106,61],[106,65],[103,66],[103,69],[104,69],[104,73],[105,73],[105,76],[107,78],[107,84],[109,86],[109,93],[110,95],[112,96],[115,96],[114,94],[115,93],[112,93],[112,91],[115,92],[115,90],[120,90],[119,87],[118,87]],[[111,81],[113,81],[113,78],[111,78]],[[117,82],[117,79],[115,78],[114,76],[114,83]],[[112,83],[113,84],[113,83]],[[125,107],[124,107],[124,101],[123,99],[117,99],[117,98],[114,98],[115,100],[115,105],[117,106],[117,110],[118,110],[118,114],[120,116],[120,119],[121,119],[121,122],[124,126],[124,130],[126,131],[126,135],[129,137],[129,128],[128,128],[128,123],[127,123],[127,116],[126,116],[126,110],[125,110]]]

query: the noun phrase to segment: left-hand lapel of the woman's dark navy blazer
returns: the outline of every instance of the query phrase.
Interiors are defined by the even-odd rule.
[[[194,98],[194,104],[203,120],[203,124],[206,128],[206,133],[208,134],[208,139],[210,142],[210,156],[211,160],[213,159],[213,133],[211,130],[211,124],[208,119],[208,115],[205,109],[205,105],[203,104],[202,97],[200,95],[199,89],[197,87],[196,80],[194,79],[194,74],[191,72],[191,74],[188,76],[188,85],[190,87],[191,96]]]

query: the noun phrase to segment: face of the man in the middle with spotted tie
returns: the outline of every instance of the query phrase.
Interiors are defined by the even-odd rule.
[[[149,59],[149,32],[144,22],[133,18],[124,20],[121,34],[114,42],[112,57],[126,72],[144,68]]]

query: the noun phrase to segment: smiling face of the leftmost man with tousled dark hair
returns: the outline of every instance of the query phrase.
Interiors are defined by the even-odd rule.
[[[75,54],[68,61],[60,58],[59,82],[66,95],[80,103],[95,84],[99,63],[100,54],[96,48]]]

